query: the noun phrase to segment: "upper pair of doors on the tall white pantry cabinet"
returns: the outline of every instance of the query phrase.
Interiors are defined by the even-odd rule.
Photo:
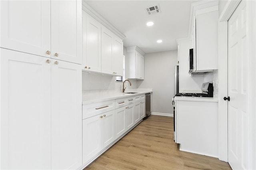
[[[80,0],[0,3],[1,47],[82,63]]]

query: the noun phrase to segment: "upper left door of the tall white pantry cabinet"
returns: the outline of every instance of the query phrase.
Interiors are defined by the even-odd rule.
[[[1,47],[50,57],[50,1],[0,1]]]

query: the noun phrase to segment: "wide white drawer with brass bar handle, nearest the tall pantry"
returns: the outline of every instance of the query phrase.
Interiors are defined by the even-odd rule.
[[[83,118],[92,117],[115,109],[115,100],[83,105]]]

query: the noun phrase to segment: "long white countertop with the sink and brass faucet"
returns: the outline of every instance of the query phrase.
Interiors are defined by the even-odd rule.
[[[128,92],[136,92],[130,94]],[[90,103],[96,103],[101,101],[108,101],[113,99],[120,99],[123,97],[136,96],[145,93],[151,93],[152,89],[129,89],[125,93],[120,93],[117,90],[93,90],[93,91],[82,91],[82,105]]]

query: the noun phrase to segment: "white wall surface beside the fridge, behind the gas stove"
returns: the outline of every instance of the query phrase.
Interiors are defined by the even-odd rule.
[[[200,93],[202,83],[204,83],[204,76],[191,77],[188,73],[188,56],[190,41],[188,38],[178,40],[180,47],[180,61],[179,61],[179,91],[180,93]]]

